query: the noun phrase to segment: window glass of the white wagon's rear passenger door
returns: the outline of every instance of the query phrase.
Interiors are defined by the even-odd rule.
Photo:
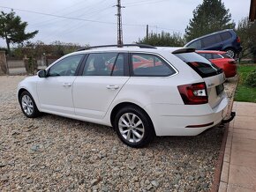
[[[84,76],[124,76],[124,55],[117,53],[90,54]]]

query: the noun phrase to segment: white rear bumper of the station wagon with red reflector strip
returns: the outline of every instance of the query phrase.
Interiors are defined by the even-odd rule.
[[[196,136],[222,122],[227,114],[228,99],[212,108],[208,104],[198,106],[155,104],[150,115],[156,136]]]

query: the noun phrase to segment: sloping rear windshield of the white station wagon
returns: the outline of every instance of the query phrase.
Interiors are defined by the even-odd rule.
[[[208,78],[222,73],[222,69],[218,68],[214,63],[211,63],[203,56],[194,52],[175,55],[184,61],[184,63],[187,63],[202,78]]]

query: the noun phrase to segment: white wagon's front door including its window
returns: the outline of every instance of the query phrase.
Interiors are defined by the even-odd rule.
[[[41,110],[50,113],[74,114],[72,85],[84,55],[71,55],[52,65],[47,78],[37,83]]]

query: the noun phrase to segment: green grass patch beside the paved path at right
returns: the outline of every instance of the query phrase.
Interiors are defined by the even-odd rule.
[[[239,82],[235,94],[235,100],[256,103],[256,87],[245,85],[247,75],[256,69],[256,65],[239,65],[237,72],[239,74]]]

